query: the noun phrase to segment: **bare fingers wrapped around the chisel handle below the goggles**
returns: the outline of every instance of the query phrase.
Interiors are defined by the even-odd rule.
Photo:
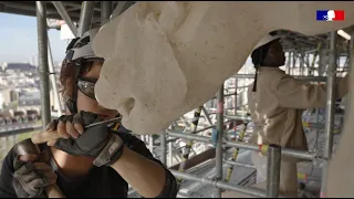
[[[84,132],[83,121],[84,118],[81,113],[62,115],[46,125],[46,132],[56,130],[58,134],[65,139],[70,137],[77,138]]]

